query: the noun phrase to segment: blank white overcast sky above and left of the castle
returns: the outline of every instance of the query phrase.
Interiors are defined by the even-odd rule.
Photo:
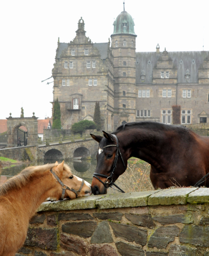
[[[208,0],[125,0],[135,23],[136,51],[209,51]],[[108,42],[123,0],[1,1],[0,119],[52,116],[51,77],[58,37],[68,43],[78,20],[93,43]]]

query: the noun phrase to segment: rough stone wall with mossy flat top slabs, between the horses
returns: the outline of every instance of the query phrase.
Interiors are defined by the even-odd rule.
[[[208,256],[208,203],[208,188],[44,203],[16,255]]]

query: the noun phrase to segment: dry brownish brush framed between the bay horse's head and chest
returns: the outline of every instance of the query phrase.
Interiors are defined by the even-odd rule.
[[[126,192],[147,191],[154,187],[149,178],[150,165],[135,158],[129,161],[126,171],[120,175],[116,184]]]

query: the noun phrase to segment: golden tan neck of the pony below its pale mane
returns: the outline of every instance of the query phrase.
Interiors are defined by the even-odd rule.
[[[22,186],[21,189],[9,191],[6,197],[14,206],[19,205],[20,210],[23,210],[30,219],[47,197],[55,196],[54,183],[51,175],[43,175]]]

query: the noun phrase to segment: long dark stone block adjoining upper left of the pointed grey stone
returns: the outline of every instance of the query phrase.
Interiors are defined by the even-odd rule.
[[[92,236],[96,227],[95,221],[68,222],[62,225],[62,232],[87,238]]]

